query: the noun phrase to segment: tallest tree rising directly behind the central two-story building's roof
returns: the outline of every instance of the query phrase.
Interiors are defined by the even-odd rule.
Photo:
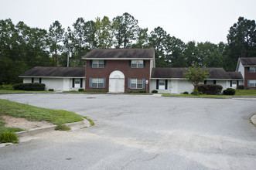
[[[135,41],[138,35],[138,21],[125,12],[123,15],[115,17],[113,22],[117,23],[117,29],[114,33],[115,47],[124,49],[131,47],[132,41]]]

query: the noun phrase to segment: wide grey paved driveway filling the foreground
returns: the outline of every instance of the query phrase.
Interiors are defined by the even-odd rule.
[[[0,98],[74,111],[91,128],[0,148],[1,169],[255,169],[256,98],[16,94]]]

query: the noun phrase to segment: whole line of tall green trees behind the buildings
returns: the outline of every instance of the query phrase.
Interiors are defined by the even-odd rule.
[[[256,56],[254,20],[240,17],[230,27],[227,43],[183,42],[157,26],[141,28],[134,16],[125,12],[94,21],[78,18],[63,28],[59,21],[48,30],[32,28],[24,22],[0,20],[0,84],[17,83],[18,76],[34,66],[84,66],[82,56],[94,48],[154,48],[157,67],[224,67],[234,71],[238,57]]]

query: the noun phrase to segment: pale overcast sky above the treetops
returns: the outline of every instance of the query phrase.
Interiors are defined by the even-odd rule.
[[[67,30],[78,17],[109,19],[128,12],[148,33],[161,26],[183,42],[227,42],[239,16],[256,19],[255,0],[1,0],[0,19],[49,29],[56,20]]]

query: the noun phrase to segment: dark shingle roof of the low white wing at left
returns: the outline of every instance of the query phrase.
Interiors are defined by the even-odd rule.
[[[25,73],[23,76],[67,76],[67,77],[85,77],[85,67],[53,67],[36,66]]]

